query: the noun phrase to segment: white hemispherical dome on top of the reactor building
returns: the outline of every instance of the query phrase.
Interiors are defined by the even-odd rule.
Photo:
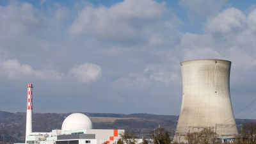
[[[82,113],[73,113],[65,118],[62,123],[62,131],[72,131],[79,129],[92,129],[92,121]]]

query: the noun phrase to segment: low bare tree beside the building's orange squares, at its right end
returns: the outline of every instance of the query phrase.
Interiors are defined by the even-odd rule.
[[[122,141],[123,143],[125,142],[125,144],[136,144],[138,141],[138,136],[134,132],[120,132],[119,134],[121,137],[121,140],[119,140]]]

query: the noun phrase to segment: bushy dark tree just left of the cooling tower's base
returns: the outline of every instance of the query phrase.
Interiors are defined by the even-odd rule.
[[[148,132],[148,135],[154,140],[154,144],[169,144],[171,142],[170,132],[164,129],[164,127],[157,127]]]

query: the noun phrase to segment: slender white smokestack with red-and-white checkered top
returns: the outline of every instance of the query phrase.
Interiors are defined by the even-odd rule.
[[[27,136],[32,132],[32,88],[33,85],[31,83],[28,84],[28,100],[27,100],[27,122],[26,122],[26,141],[27,142]]]

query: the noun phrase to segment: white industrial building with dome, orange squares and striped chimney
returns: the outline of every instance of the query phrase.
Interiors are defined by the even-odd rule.
[[[73,113],[63,121],[61,129],[51,132],[33,132],[32,84],[28,84],[26,141],[28,144],[113,144],[123,129],[93,129],[92,121],[82,113]]]

